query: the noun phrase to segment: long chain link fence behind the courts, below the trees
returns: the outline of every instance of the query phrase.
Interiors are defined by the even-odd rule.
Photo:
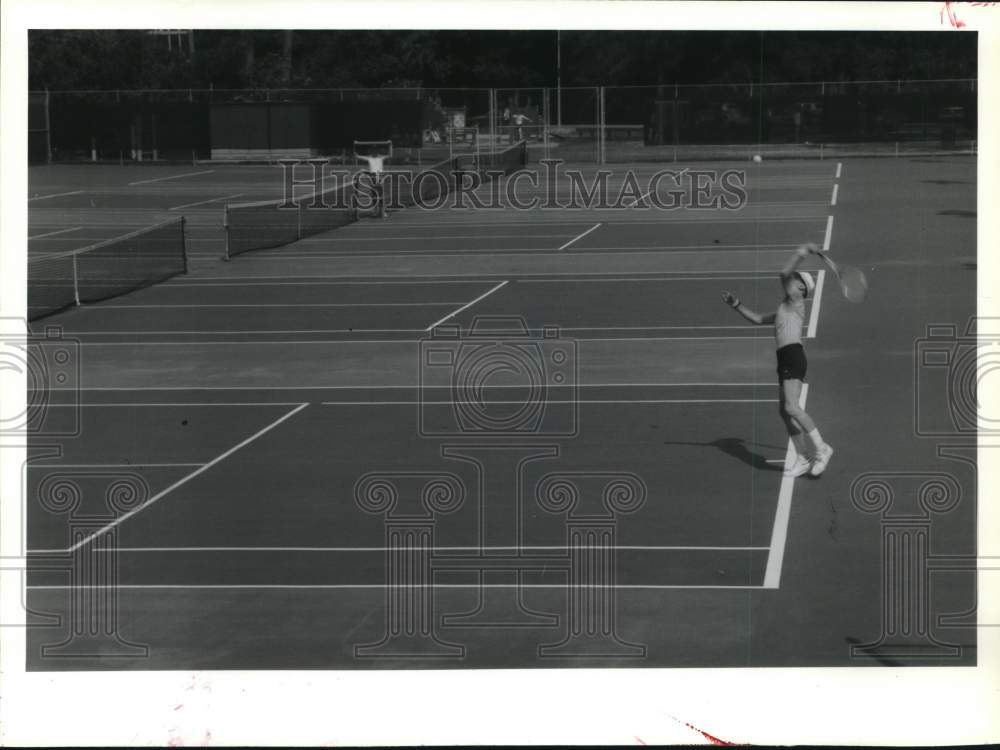
[[[391,140],[397,162],[527,141],[529,159],[975,153],[975,79],[561,88],[32,92],[29,160],[350,161]]]

